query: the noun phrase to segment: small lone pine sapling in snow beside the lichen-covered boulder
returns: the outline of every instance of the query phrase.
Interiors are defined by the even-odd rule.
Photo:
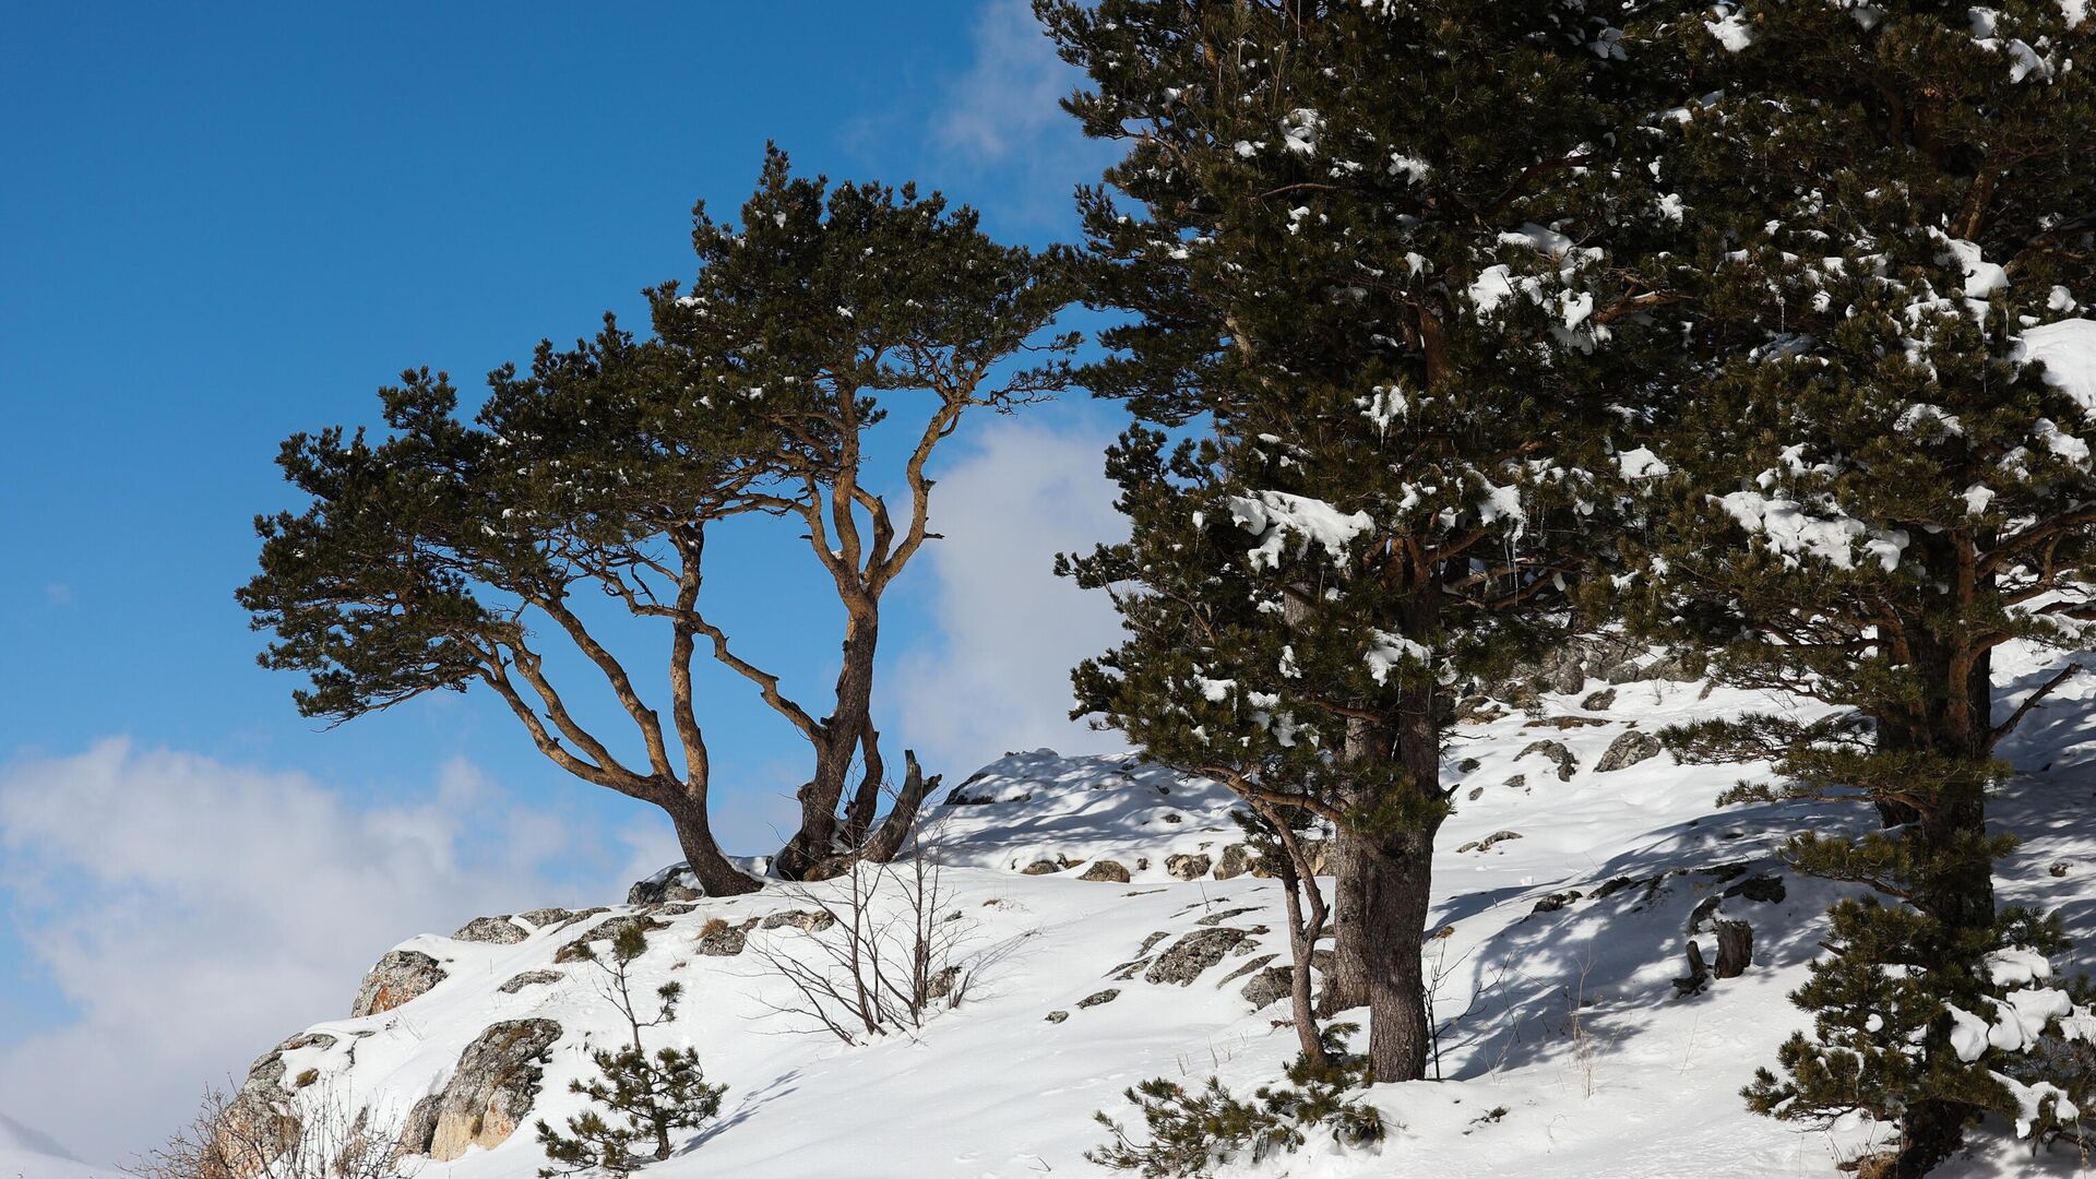
[[[583,957],[604,969],[604,996],[627,1017],[633,1041],[591,1053],[599,1074],[595,1080],[568,1082],[570,1093],[589,1097],[602,1112],[585,1110],[568,1118],[568,1133],[539,1120],[539,1145],[545,1148],[547,1162],[562,1164],[539,1171],[541,1179],[583,1171],[629,1175],[648,1162],[669,1158],[671,1131],[696,1129],[721,1112],[721,1093],[727,1087],[706,1085],[696,1049],[664,1047],[648,1055],[641,1043],[641,1028],[675,1020],[677,1001],[683,996],[681,984],[664,982],[656,988],[656,1015],[639,1017],[633,999],[633,961],[646,952],[648,936],[637,925],[620,929],[612,940],[610,963],[583,946]],[[637,1143],[648,1141],[654,1141],[652,1154],[635,1152]]]

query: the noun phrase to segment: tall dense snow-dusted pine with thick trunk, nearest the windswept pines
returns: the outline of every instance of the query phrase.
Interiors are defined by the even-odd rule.
[[[1159,426],[1109,455],[1132,539],[1065,564],[1126,587],[1082,711],[1337,829],[1335,1005],[1417,1078],[1455,684],[1562,617],[1656,302],[1606,245],[1658,220],[1620,31],[1555,0],[1035,8],[1090,73],[1071,113],[1128,145],[1079,195],[1092,302],[1132,317],[1088,378]]]

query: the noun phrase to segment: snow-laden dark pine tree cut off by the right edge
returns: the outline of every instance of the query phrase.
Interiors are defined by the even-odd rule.
[[[1840,709],[1677,738],[1773,759],[1763,795],[1878,808],[1888,831],[1792,848],[1891,904],[1836,908],[1796,996],[1817,1038],[1748,1097],[1897,1118],[1888,1173],[1922,1175],[2016,1106],[1995,1062],[1953,1051],[1949,1009],[2000,990],[1989,955],[2050,948],[1995,913],[1987,793],[2060,680],[1997,713],[1991,652],[2081,646],[2096,617],[2096,23],[2054,0],[1725,4],[1677,34],[1689,86],[1654,126],[1696,245],[1654,266],[1696,373],[1658,453],[1622,466],[1664,527],[1629,533],[1650,543],[1618,606],[1733,684]]]

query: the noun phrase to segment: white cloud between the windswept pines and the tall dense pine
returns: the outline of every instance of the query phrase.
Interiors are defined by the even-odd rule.
[[[903,655],[885,699],[891,741],[968,774],[1008,749],[1119,749],[1067,720],[1069,669],[1119,640],[1105,594],[1054,577],[1056,552],[1128,535],[1102,474],[1107,436],[1000,420],[939,476],[926,548],[939,638]]]

